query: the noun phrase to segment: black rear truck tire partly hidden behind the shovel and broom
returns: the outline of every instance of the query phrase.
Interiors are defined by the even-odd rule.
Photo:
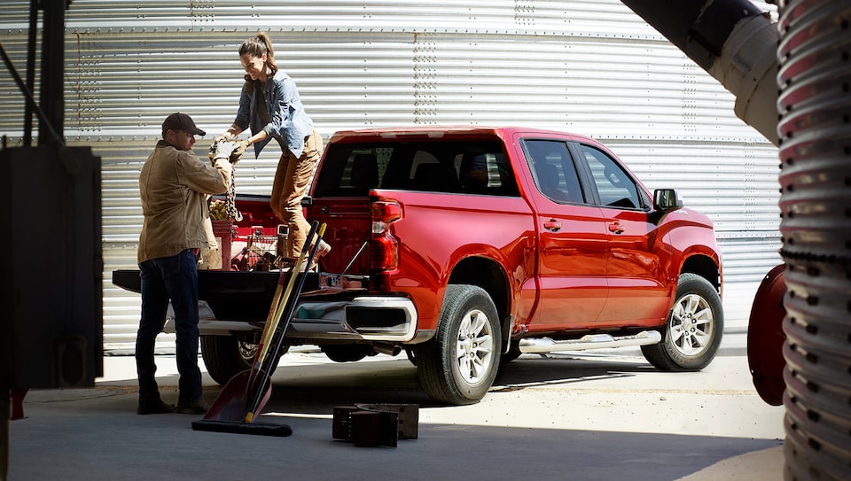
[[[282,346],[280,356],[286,353],[287,345]],[[257,340],[254,334],[230,336],[201,336],[201,357],[207,366],[207,373],[218,384],[228,384],[230,378],[251,369],[254,356],[257,355]],[[275,372],[277,362],[269,372]]]

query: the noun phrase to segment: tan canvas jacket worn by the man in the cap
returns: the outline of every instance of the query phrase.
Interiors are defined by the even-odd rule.
[[[144,223],[138,262],[186,249],[215,248],[207,198],[228,191],[231,172],[227,159],[216,159],[211,167],[193,152],[178,151],[160,140],[139,175]]]

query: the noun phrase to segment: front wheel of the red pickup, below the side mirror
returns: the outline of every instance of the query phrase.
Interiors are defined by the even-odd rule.
[[[705,278],[681,274],[662,342],[642,345],[644,359],[665,371],[697,371],[712,362],[724,331],[721,297]]]

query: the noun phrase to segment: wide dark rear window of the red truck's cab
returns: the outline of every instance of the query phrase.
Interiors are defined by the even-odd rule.
[[[519,196],[500,142],[332,144],[314,197],[365,196],[370,189]]]

